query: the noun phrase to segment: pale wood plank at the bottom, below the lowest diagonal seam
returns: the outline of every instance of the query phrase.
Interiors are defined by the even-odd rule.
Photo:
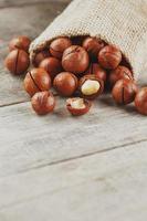
[[[0,220],[145,221],[147,143],[0,179]]]

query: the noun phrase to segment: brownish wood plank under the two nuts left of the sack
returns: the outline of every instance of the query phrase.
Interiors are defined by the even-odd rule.
[[[43,6],[0,10],[0,106],[29,101],[23,90],[23,76],[14,77],[4,69],[3,60],[8,53],[8,41],[19,34],[35,38],[65,6],[65,3],[51,2]]]

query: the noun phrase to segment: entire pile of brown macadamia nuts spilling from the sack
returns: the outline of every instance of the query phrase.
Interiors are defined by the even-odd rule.
[[[9,43],[7,69],[14,75],[30,66],[30,39],[18,36]],[[60,36],[35,54],[33,69],[24,77],[24,88],[31,96],[32,107],[39,115],[55,108],[54,87],[60,96],[67,97],[66,108],[74,115],[86,114],[92,101],[112,91],[119,105],[135,102],[140,114],[147,115],[147,87],[138,88],[134,74],[120,50],[101,39],[91,36]]]

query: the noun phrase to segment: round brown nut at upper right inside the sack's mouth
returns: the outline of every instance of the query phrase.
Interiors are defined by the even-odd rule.
[[[116,69],[122,61],[122,52],[115,45],[104,46],[98,54],[99,64],[107,70]]]

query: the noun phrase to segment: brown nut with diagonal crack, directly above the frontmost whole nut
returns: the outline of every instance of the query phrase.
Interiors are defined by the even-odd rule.
[[[33,96],[36,92],[49,91],[51,87],[51,77],[43,69],[33,69],[29,71],[24,78],[24,88]]]

